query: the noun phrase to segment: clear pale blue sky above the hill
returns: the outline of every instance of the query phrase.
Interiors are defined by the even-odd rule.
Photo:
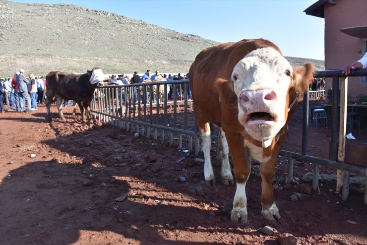
[[[317,0],[13,0],[68,3],[114,12],[217,42],[264,38],[284,56],[324,60],[324,19],[304,10]]]

